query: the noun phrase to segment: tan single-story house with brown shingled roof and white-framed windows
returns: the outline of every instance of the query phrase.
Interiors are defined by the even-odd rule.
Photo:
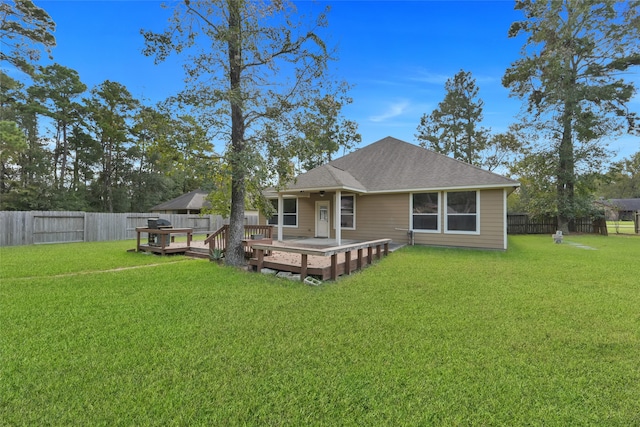
[[[507,249],[504,176],[386,137],[271,192],[277,238],[331,238]]]

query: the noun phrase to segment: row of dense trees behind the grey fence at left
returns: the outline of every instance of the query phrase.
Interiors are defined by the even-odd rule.
[[[144,212],[210,187],[217,155],[193,117],[144,105],[117,82],[87,90],[59,64],[30,85],[0,79],[2,210]]]

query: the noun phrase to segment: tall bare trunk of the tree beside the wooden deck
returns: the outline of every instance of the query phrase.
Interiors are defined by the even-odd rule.
[[[244,265],[244,199],[245,165],[243,158],[244,116],[240,76],[242,72],[242,33],[240,5],[229,2],[229,84],[231,87],[231,217],[229,218],[229,247],[226,263],[232,266]]]

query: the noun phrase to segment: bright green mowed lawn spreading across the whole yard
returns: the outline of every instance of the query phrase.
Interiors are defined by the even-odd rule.
[[[640,425],[640,239],[565,242],[404,248],[320,287],[127,242],[0,249],[0,420]]]

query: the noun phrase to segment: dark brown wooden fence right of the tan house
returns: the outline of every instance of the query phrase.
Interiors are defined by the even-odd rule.
[[[528,214],[507,215],[508,234],[553,234],[558,230],[556,217],[532,217]],[[604,218],[577,218],[569,222],[569,231],[607,235]]]

